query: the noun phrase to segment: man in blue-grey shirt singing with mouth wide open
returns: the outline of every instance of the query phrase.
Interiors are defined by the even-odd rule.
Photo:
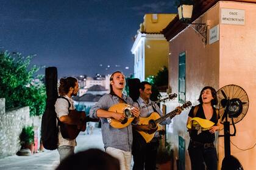
[[[132,125],[116,129],[110,126],[107,118],[113,118],[118,121],[124,120],[124,115],[116,112],[110,112],[108,109],[114,104],[126,103],[133,105],[132,98],[123,94],[123,89],[126,80],[123,73],[117,71],[110,76],[110,94],[106,94],[100,98],[90,110],[91,118],[101,118],[102,140],[104,143],[105,151],[118,158],[121,170],[130,169],[132,160]],[[134,115],[134,122],[138,121],[140,114],[138,108],[134,107],[132,110]]]

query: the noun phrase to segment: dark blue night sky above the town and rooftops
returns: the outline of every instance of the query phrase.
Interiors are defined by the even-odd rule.
[[[132,74],[132,37],[144,14],[177,12],[174,0],[0,2],[0,50],[37,55],[31,64],[56,66],[59,77]]]

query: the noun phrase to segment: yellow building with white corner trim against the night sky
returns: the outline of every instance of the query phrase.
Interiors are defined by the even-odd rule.
[[[161,31],[175,17],[174,14],[146,14],[135,36],[131,52],[134,55],[134,77],[144,81],[168,67],[168,42]]]

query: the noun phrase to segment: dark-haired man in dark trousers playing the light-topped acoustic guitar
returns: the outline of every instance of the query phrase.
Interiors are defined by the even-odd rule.
[[[151,84],[147,81],[140,83],[140,97],[137,100],[138,107],[144,106],[146,104],[152,103],[149,99],[151,97]],[[182,110],[179,110],[180,112]],[[152,112],[157,112],[162,117],[162,111],[157,106],[157,104],[152,104],[152,106],[146,107],[140,110],[140,117],[149,117]],[[167,118],[160,124],[169,124],[171,123],[171,118]],[[133,146],[132,146],[132,155],[133,155],[133,169],[143,170],[143,169],[155,169],[156,166],[156,157],[157,149],[159,145],[159,134],[155,133],[154,138],[146,143],[146,140],[140,135],[138,131],[144,131],[146,133],[152,134],[156,129],[149,126],[149,124],[137,124],[133,125]]]

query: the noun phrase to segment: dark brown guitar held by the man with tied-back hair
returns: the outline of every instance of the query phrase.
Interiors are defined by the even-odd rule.
[[[88,121],[99,121],[99,118],[90,118],[89,116],[86,116],[84,111],[77,110],[69,110],[68,117],[70,117],[71,120],[74,121],[82,121],[82,127],[78,128],[77,124],[66,124],[59,121],[60,132],[62,133],[62,137],[67,139],[75,139],[77,135],[79,135],[80,131],[84,132],[86,130]]]

